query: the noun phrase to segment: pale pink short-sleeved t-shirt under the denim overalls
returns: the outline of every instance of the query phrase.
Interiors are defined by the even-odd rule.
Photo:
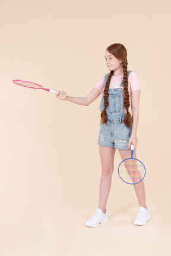
[[[109,89],[123,88],[122,86],[119,86],[123,80],[123,77],[124,77],[124,73],[122,73],[121,75],[116,75],[115,77],[112,75],[111,80],[110,80]],[[103,77],[101,77],[99,79],[99,81],[97,81],[96,85],[93,87],[93,88],[98,89],[101,93],[103,92],[102,85],[103,85],[104,79],[105,79],[105,75]],[[131,71],[131,73],[129,74],[129,77],[128,77],[128,92],[129,92],[130,105],[131,105],[130,95],[131,95],[132,91],[137,91],[137,90],[141,90],[140,80],[137,75],[137,72]],[[126,114],[125,108],[124,108],[124,113]]]

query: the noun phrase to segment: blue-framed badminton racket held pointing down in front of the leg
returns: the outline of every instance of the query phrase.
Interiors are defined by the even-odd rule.
[[[119,177],[127,184],[137,184],[145,177],[145,166],[143,163],[132,158],[134,146],[131,144],[131,158],[123,160],[118,167]]]

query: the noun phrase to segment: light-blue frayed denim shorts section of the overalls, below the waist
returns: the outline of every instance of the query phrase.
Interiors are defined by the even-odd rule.
[[[98,145],[105,147],[115,147],[118,149],[129,150],[128,142],[131,137],[132,129],[129,128],[124,122],[121,120],[122,118],[113,118],[108,119],[107,124],[102,124],[102,120],[100,119],[100,131],[99,131],[99,140]]]

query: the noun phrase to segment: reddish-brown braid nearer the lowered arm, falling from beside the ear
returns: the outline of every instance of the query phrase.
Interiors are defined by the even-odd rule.
[[[127,76],[127,65],[128,65],[128,61],[126,59],[126,61],[122,62],[123,65],[123,72],[124,72],[124,90],[123,90],[123,97],[124,97],[124,106],[126,109],[126,116],[124,118],[124,120],[122,122],[125,122],[125,124],[132,128],[132,117],[131,117],[131,113],[129,113],[129,106],[130,106],[130,102],[129,102],[129,91],[128,91],[128,76]]]

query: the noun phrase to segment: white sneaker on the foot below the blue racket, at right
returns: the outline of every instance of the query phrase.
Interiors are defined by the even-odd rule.
[[[151,216],[150,216],[150,213],[148,212],[148,207],[147,209],[142,207],[142,206],[139,206],[138,208],[138,214],[137,214],[137,217],[136,219],[134,220],[134,224],[135,225],[140,225],[140,226],[143,226],[145,225],[148,220],[151,219]]]

